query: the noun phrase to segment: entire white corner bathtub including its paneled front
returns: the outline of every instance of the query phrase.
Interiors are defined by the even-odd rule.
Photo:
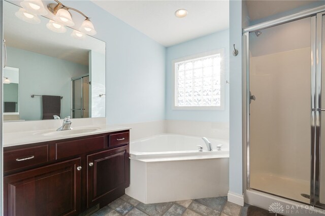
[[[229,142],[159,134],[130,143],[130,187],[126,194],[143,203],[226,196],[229,189]],[[221,151],[217,145],[223,145]],[[203,147],[199,152],[197,145]]]

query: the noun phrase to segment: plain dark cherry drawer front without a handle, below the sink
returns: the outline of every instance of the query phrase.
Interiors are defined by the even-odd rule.
[[[104,136],[55,143],[56,159],[81,155],[104,148]]]

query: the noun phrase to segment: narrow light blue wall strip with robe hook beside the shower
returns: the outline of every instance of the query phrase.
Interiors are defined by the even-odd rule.
[[[243,194],[243,142],[242,142],[242,1],[230,1],[230,44],[239,49],[230,55],[230,152],[229,191]]]

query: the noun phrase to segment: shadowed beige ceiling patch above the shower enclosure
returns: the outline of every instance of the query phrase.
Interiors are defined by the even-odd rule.
[[[313,0],[246,0],[250,20],[258,20],[319,1]]]

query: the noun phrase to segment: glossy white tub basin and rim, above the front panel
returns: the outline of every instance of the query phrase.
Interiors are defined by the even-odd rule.
[[[130,157],[143,162],[229,158],[229,141],[208,138],[213,151],[207,151],[202,137],[164,133],[132,141]],[[221,151],[217,146],[222,145]],[[199,152],[198,146],[203,147]]]

